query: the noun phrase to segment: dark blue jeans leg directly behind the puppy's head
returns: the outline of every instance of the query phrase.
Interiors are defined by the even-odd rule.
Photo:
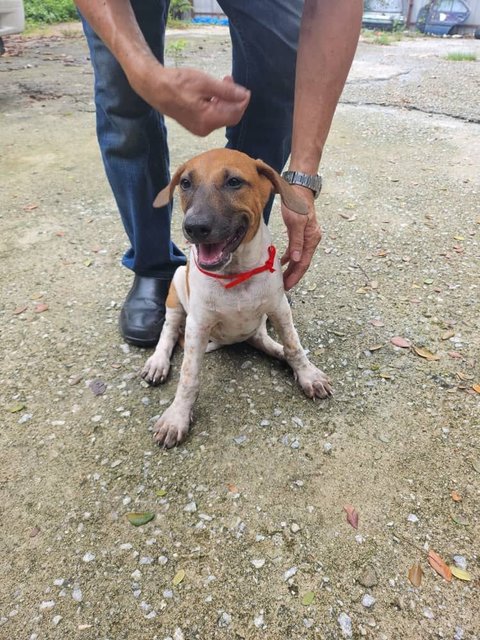
[[[229,18],[232,75],[252,92],[227,147],[282,171],[292,144],[295,66],[303,0],[220,0]],[[273,198],[264,211],[268,221]]]

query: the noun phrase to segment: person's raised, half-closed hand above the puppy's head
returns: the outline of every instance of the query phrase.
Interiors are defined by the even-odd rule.
[[[196,69],[155,65],[129,80],[152,107],[197,136],[237,124],[250,100],[250,91],[231,76],[217,80]]]

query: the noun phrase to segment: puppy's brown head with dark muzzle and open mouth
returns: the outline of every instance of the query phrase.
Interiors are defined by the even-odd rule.
[[[272,192],[289,209],[307,213],[305,202],[274,169],[232,149],[213,149],[185,162],[153,206],[170,202],[177,186],[183,232],[205,269],[221,269],[242,242],[255,236]]]

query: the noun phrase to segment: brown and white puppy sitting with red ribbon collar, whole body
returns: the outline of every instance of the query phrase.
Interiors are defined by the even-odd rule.
[[[205,351],[246,341],[286,360],[309,398],[332,390],[326,375],[307,359],[293,326],[280,260],[263,222],[272,193],[287,207],[306,213],[295,190],[271,167],[244,153],[214,149],[177,169],[155,199],[163,206],[180,187],[183,232],[192,243],[189,263],[179,267],[166,301],[165,324],[142,377],[150,384],[167,378],[170,358],[185,333],[185,353],[175,399],[154,427],[165,447],[182,442],[191,422]],[[271,320],[282,343],[267,333]]]

